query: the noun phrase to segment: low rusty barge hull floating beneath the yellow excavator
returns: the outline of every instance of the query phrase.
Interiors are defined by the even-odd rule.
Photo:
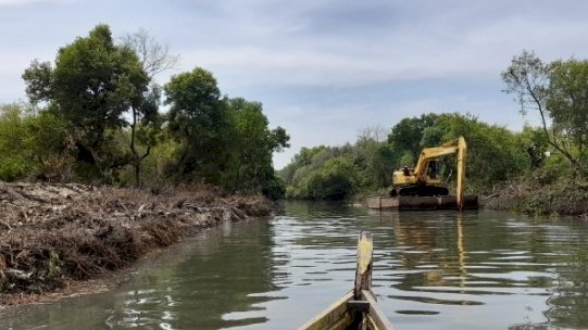
[[[436,211],[458,210],[455,195],[443,196],[368,196],[365,199],[367,208],[398,211]],[[477,210],[478,196],[464,195],[463,210]]]

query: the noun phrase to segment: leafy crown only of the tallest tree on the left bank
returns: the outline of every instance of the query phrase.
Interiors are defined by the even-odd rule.
[[[105,25],[61,48],[53,69],[34,62],[23,78],[33,102],[54,103],[66,122],[97,136],[124,124],[123,113],[148,82],[136,54],[115,46]]]

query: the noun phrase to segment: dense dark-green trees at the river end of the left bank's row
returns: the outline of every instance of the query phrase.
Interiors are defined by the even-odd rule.
[[[167,127],[180,154],[173,173],[233,192],[283,193],[272,153],[287,148],[289,137],[282,127],[268,128],[261,103],[220,99],[216,79],[203,68],[172,77],[164,89]]]

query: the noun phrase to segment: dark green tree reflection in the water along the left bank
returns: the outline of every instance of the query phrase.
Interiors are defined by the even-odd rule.
[[[173,246],[120,290],[3,315],[2,329],[221,329],[267,321],[276,290],[267,220],[227,224]],[[279,276],[279,275],[277,275]],[[30,317],[33,315],[33,317]]]

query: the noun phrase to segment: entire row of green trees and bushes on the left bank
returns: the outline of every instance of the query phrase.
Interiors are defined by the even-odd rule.
[[[29,103],[0,105],[0,179],[205,182],[279,196],[272,153],[288,147],[286,131],[268,128],[261,103],[223,96],[204,68],[158,86],[177,61],[145,31],[115,42],[107,25],[59,49],[53,64],[33,61]]]

